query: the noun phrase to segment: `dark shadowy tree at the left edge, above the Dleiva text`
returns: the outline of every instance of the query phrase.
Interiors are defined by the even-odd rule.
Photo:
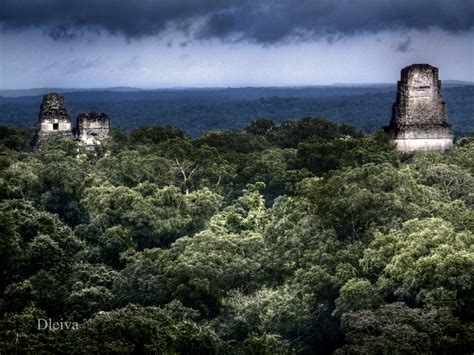
[[[39,211],[31,203],[10,200],[0,204],[0,221],[8,239],[1,270],[5,308],[21,312],[35,306],[49,315],[64,311],[66,280],[84,245],[57,216]],[[6,286],[6,287],[5,287]]]

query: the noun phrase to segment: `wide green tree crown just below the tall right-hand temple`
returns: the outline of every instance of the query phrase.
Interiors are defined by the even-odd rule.
[[[340,238],[360,238],[369,228],[387,230],[428,214],[436,192],[418,183],[409,167],[384,163],[335,171],[301,183],[301,195],[316,206],[323,224]]]

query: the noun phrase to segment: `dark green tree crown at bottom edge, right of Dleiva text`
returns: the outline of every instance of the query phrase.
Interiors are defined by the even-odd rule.
[[[218,354],[225,343],[196,312],[173,302],[166,307],[129,305],[99,312],[86,321],[71,339],[87,353],[193,353]]]

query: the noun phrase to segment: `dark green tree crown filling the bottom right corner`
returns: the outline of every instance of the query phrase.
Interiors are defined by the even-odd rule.
[[[349,345],[337,354],[462,354],[474,340],[446,309],[413,309],[398,302],[348,313],[342,327]]]

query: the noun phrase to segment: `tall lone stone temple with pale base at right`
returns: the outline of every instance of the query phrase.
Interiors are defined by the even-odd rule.
[[[441,98],[438,68],[412,64],[401,71],[390,125],[385,127],[402,155],[419,151],[447,151],[453,132]]]

